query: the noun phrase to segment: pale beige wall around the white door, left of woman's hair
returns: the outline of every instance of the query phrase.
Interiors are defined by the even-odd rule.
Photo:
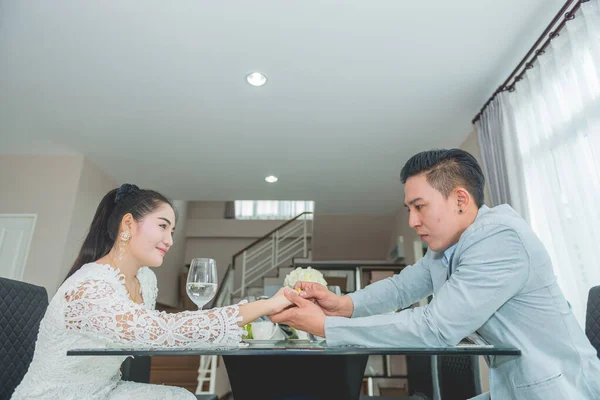
[[[37,214],[23,280],[48,295],[64,280],[116,182],[82,156],[0,155],[0,213]]]

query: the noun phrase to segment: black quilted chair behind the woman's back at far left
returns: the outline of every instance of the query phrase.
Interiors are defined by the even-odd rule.
[[[43,287],[0,278],[0,400],[10,399],[23,380],[47,308]]]

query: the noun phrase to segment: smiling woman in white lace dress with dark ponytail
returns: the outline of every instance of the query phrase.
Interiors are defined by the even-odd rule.
[[[67,357],[73,348],[237,345],[244,324],[290,305],[268,300],[206,311],[154,310],[158,267],[173,245],[175,211],[160,193],[124,184],[104,196],[67,279],[40,324],[20,399],[195,399],[185,389],[121,381],[126,357]]]

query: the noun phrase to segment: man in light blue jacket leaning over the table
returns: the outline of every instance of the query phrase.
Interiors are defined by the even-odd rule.
[[[287,294],[297,307],[271,319],[325,336],[330,346],[446,347],[477,332],[522,352],[490,359],[492,399],[600,399],[600,360],[548,253],[512,208],[483,204],[475,158],[458,149],[422,152],[401,180],[425,257],[347,296],[300,282],[300,295]],[[389,314],[432,293],[425,307]]]

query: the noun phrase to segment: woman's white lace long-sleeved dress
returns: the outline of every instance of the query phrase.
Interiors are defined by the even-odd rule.
[[[138,271],[144,304],[133,302],[124,276],[86,264],[67,279],[40,324],[33,361],[13,393],[20,399],[195,399],[185,389],[121,381],[121,356],[67,356],[75,348],[237,345],[238,306],[167,314],[154,310],[156,276]]]

